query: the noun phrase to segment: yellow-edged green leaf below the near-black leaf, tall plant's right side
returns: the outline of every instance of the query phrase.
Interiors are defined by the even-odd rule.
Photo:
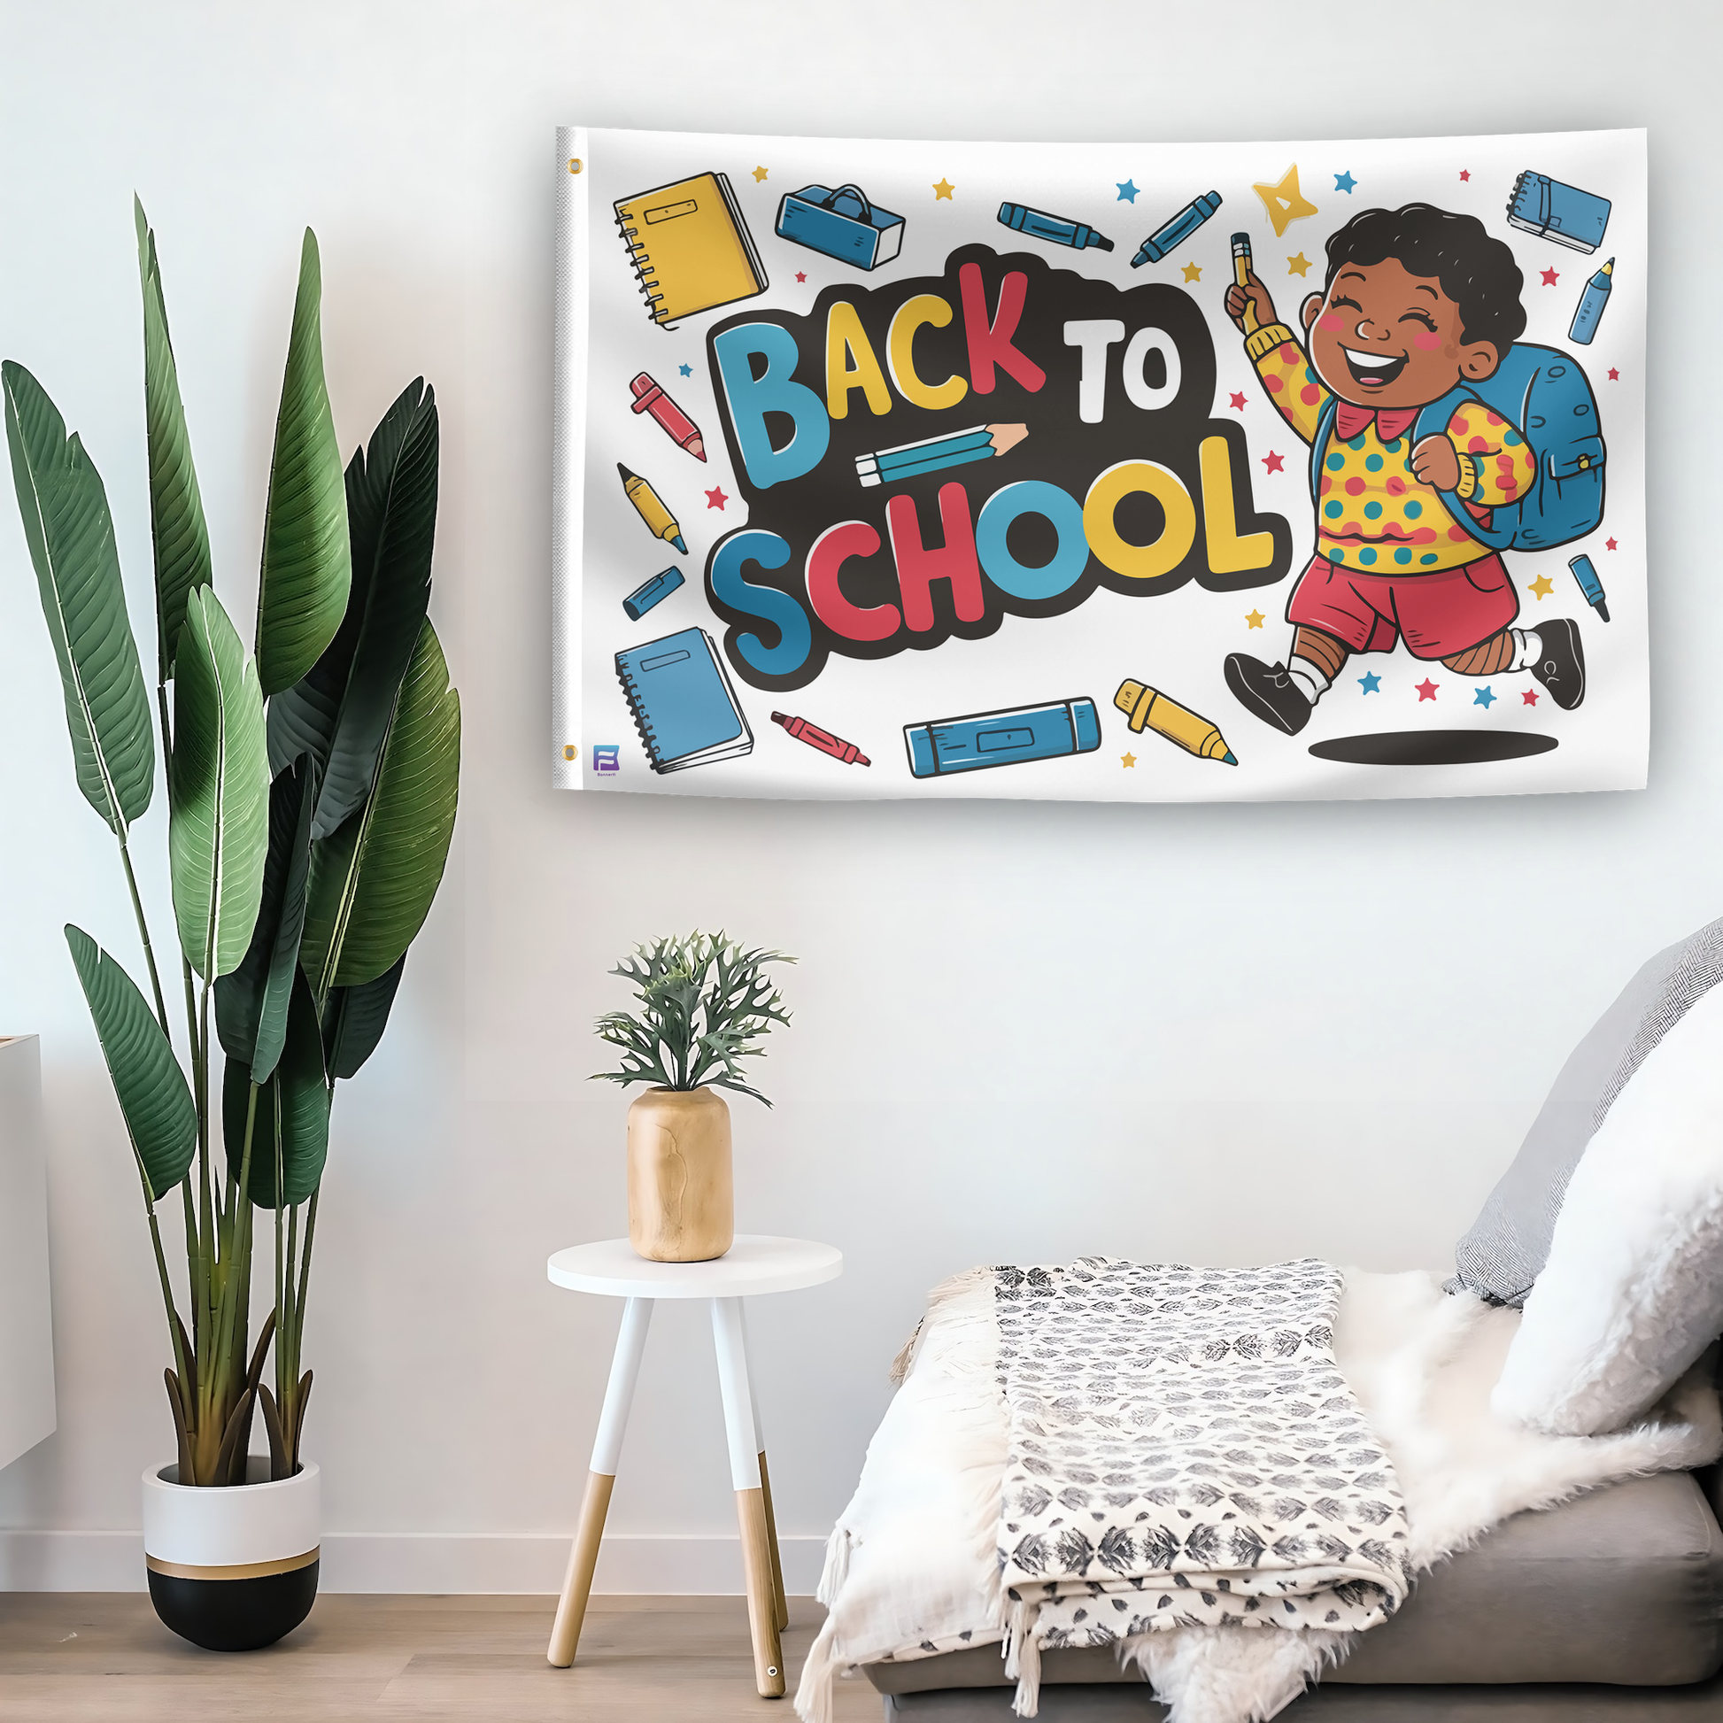
[[[458,789],[460,696],[426,622],[369,799],[312,846],[300,961],[319,998],[376,980],[414,942],[443,879]]]

